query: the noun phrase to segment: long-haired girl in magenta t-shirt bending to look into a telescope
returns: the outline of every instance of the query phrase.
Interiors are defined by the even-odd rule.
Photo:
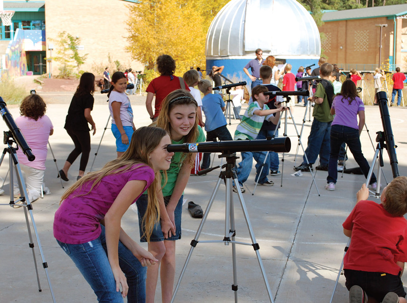
[[[158,260],[133,241],[121,228],[121,218],[148,190],[142,221],[150,239],[160,217],[156,191],[160,170],[167,170],[173,153],[168,133],[159,127],[137,129],[128,150],[100,171],[79,179],[61,198],[55,212],[53,233],[62,249],[91,285],[99,302],[146,300],[144,266]],[[120,287],[122,291],[120,291]]]

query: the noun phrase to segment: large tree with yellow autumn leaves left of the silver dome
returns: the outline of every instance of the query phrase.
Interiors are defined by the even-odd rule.
[[[177,63],[177,74],[205,66],[209,26],[229,0],[141,0],[129,6],[129,45],[133,58],[153,69],[160,54]]]

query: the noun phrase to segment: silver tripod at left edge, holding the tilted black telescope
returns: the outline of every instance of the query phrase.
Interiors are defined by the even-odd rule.
[[[35,256],[33,236],[31,233],[30,221],[28,221],[27,210],[30,213],[31,223],[33,224],[34,233],[36,235],[37,244],[38,244],[38,248],[39,248],[41,259],[42,259],[42,266],[43,266],[43,268],[45,270],[45,274],[47,276],[47,281],[48,281],[48,285],[49,285],[49,290],[51,292],[52,301],[55,302],[55,297],[54,297],[54,294],[52,291],[51,282],[50,282],[49,276],[48,276],[48,270],[47,270],[48,264],[44,258],[44,253],[42,251],[40,237],[38,235],[37,226],[34,221],[33,206],[31,205],[30,199],[28,199],[24,178],[22,177],[20,164],[18,163],[18,159],[17,159],[16,149],[12,146],[16,142],[15,142],[11,132],[9,132],[9,131],[5,132],[5,143],[7,144],[8,147],[6,147],[3,150],[2,157],[0,158],[0,166],[3,163],[4,156],[6,155],[6,153],[8,153],[9,154],[9,170],[10,170],[10,203],[0,204],[0,205],[1,206],[7,205],[7,206],[14,207],[15,203],[20,202],[20,201],[22,202],[21,206],[24,209],[25,223],[27,225],[28,238],[30,239],[30,243],[28,243],[28,246],[31,247],[31,250],[33,252],[34,266],[35,266],[35,271],[37,274],[38,291],[41,292],[42,289],[41,289],[41,284],[40,284],[40,277],[38,274],[37,259]],[[14,164],[14,169],[13,169],[13,164]],[[19,186],[19,190],[20,190],[20,197],[16,201],[14,201],[14,185],[13,185],[14,184],[14,171],[17,174],[16,177],[17,177],[18,186]]]

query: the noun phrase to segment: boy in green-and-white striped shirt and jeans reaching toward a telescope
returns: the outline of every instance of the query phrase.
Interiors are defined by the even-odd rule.
[[[242,118],[242,122],[238,125],[235,131],[234,140],[254,140],[260,131],[261,125],[263,125],[264,120],[269,120],[273,117],[274,113],[284,111],[286,107],[282,107],[281,103],[275,103],[276,109],[269,109],[265,103],[269,101],[269,96],[264,93],[268,92],[268,88],[263,85],[258,85],[253,88],[251,95],[253,98],[253,103],[249,105],[246,112]],[[261,167],[263,166],[264,159],[267,152],[242,152],[242,162],[239,163],[237,168],[237,176],[239,179],[239,186],[243,192],[246,190],[243,187],[243,183],[246,182],[250,175],[250,171],[253,164],[253,158],[256,160],[256,178],[258,179],[258,185],[272,186],[273,181],[267,179],[269,173],[269,161],[266,161],[265,167],[259,176]],[[237,187],[233,185],[233,191],[237,192]]]

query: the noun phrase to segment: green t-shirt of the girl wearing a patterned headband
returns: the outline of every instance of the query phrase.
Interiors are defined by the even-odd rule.
[[[199,129],[199,134],[198,138],[196,139],[196,142],[205,142],[206,137],[205,133],[203,133],[203,130],[200,126],[198,126]],[[183,144],[184,138],[181,141],[173,141],[171,140],[171,144]],[[194,142],[190,142],[194,143]],[[165,187],[162,189],[162,194],[164,197],[166,196],[171,196],[172,195],[172,190],[175,187],[175,183],[177,182],[177,177],[178,173],[180,172],[180,169],[182,167],[182,162],[184,159],[187,157],[188,153],[182,153],[182,152],[176,152],[171,159],[171,164],[169,166],[169,169],[167,170],[167,183],[165,184]],[[161,173],[161,182],[163,185],[164,184],[164,175]]]

